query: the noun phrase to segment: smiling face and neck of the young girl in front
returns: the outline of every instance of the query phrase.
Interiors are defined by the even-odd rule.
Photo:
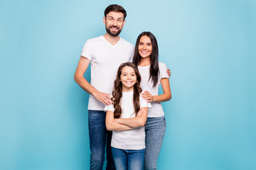
[[[133,91],[134,84],[136,84],[137,76],[132,67],[124,66],[122,68],[122,74],[120,76],[122,83],[122,91]]]

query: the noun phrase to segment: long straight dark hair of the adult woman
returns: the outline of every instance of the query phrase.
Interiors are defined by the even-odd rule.
[[[136,41],[136,45],[134,48],[134,57],[133,57],[133,63],[135,65],[139,65],[139,62],[141,62],[142,57],[139,55],[139,40],[140,38],[142,38],[142,36],[148,36],[151,40],[151,44],[152,44],[152,52],[150,55],[150,69],[149,69],[149,80],[151,79],[151,81],[153,81],[153,87],[156,86],[157,81],[158,81],[158,77],[159,77],[159,48],[157,45],[157,41],[156,41],[156,37],[149,31],[144,31],[142,32]]]

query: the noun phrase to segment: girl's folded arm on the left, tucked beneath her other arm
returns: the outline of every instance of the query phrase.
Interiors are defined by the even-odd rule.
[[[133,129],[132,127],[129,127],[127,125],[115,123],[113,111],[107,111],[106,128],[107,128],[107,130],[114,130],[114,131],[124,131],[124,130],[132,130]]]

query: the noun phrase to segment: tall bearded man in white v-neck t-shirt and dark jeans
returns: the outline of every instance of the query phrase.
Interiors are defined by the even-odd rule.
[[[90,94],[88,104],[90,169],[102,169],[107,137],[107,169],[115,169],[111,153],[112,132],[105,127],[105,105],[112,104],[110,94],[120,64],[132,61],[134,47],[119,37],[125,23],[126,11],[122,6],[110,5],[105,9],[103,22],[107,33],[85,42],[75,71],[75,81]],[[83,77],[91,64],[91,84]]]

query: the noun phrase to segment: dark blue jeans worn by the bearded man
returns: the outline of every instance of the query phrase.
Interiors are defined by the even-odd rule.
[[[107,140],[107,170],[115,170],[110,142],[112,132],[107,131],[105,111],[89,111],[89,137],[90,137],[90,170],[102,170],[105,160],[105,147]],[[107,139],[106,139],[107,138]]]

